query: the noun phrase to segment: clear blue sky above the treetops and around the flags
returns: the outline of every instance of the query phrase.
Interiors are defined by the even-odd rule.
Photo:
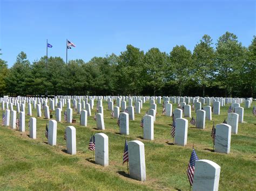
[[[145,52],[158,47],[170,53],[176,45],[193,51],[204,34],[214,44],[226,31],[244,46],[256,34],[253,0],[224,1],[24,1],[0,0],[1,58],[9,67],[24,51],[28,59],[46,54],[65,60],[66,38],[76,45],[69,59],[89,61],[124,51],[127,44]]]

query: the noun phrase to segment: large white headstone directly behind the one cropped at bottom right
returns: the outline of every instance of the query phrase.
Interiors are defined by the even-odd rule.
[[[224,123],[216,125],[214,152],[226,154],[230,153],[230,143],[231,126]]]

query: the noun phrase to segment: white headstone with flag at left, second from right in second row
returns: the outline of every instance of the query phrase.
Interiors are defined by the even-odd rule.
[[[174,144],[185,146],[187,144],[187,126],[188,121],[184,118],[176,119]]]

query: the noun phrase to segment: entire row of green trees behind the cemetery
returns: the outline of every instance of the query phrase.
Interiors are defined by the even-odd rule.
[[[32,63],[24,52],[8,68],[0,59],[1,95],[187,95],[255,97],[256,37],[248,47],[226,32],[215,46],[205,34],[193,52],[144,53],[127,45],[120,55],[88,62],[46,56]]]

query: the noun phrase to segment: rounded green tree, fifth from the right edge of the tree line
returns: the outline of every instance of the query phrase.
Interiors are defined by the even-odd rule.
[[[153,95],[165,84],[167,70],[167,55],[158,48],[151,48],[144,56],[145,81],[148,87],[153,87]]]

